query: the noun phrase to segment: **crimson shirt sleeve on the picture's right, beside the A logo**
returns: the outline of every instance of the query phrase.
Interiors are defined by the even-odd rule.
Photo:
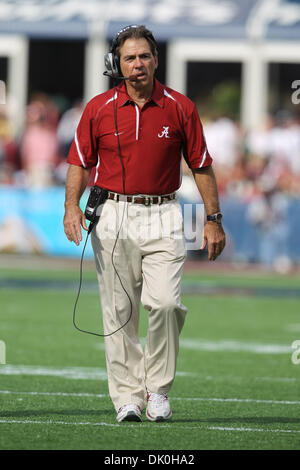
[[[189,168],[196,169],[210,166],[212,158],[207,149],[203,126],[196,106],[194,106],[190,117],[186,119],[184,129],[185,145],[183,156]]]

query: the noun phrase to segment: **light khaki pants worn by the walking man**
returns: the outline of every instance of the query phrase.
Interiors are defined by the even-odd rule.
[[[109,393],[115,409],[146,406],[146,389],[167,393],[176,372],[186,308],[180,285],[186,257],[177,200],[144,206],[107,200],[92,232],[102,305]],[[116,235],[120,230],[119,237]],[[113,253],[113,256],[112,256]],[[124,289],[126,292],[124,291]],[[149,312],[145,351],[140,302]]]

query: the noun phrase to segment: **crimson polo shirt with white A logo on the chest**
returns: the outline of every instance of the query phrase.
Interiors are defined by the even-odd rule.
[[[156,79],[142,109],[127,94],[124,81],[89,101],[67,161],[84,168],[95,166],[95,185],[123,193],[118,137],[125,194],[176,191],[181,184],[182,156],[191,169],[212,162],[194,103]]]

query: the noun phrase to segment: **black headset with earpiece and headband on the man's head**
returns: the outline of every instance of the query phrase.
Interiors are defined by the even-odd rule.
[[[121,67],[120,67],[120,56],[117,53],[117,48],[119,46],[119,38],[121,34],[131,29],[140,28],[140,26],[141,25],[136,25],[136,24],[125,26],[125,28],[122,28],[116,34],[115,38],[113,39],[111,43],[110,51],[104,56],[104,65],[105,65],[106,71],[103,72],[103,75],[105,75],[106,77],[117,79],[117,80],[128,80],[130,78],[130,77],[122,76]],[[154,45],[157,51],[158,45],[151,31],[145,28],[144,34],[145,34],[145,39],[148,39]]]

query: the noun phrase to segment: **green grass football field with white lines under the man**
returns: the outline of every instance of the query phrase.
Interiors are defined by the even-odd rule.
[[[0,449],[300,449],[299,277],[186,273],[173,418],[119,424],[103,340],[72,324],[78,270],[45,268],[0,270]],[[90,270],[78,323],[101,333]]]

